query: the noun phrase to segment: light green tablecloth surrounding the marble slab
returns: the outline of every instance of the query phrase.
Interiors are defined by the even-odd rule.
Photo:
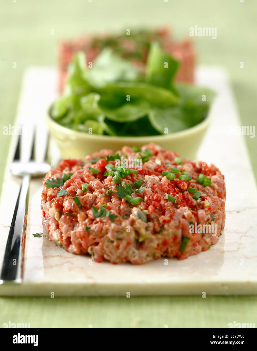
[[[1,124],[13,123],[24,69],[54,65],[61,39],[94,31],[164,25],[173,27],[174,37],[179,38],[188,36],[189,28],[197,25],[217,27],[215,40],[194,38],[198,62],[228,70],[242,125],[255,125],[254,5],[251,0],[9,0],[1,6],[0,19]],[[1,183],[10,138],[0,138]],[[256,138],[246,136],[245,140],[257,175]],[[31,327],[227,327],[233,320],[256,323],[256,302],[256,296],[0,298],[0,326],[11,320],[30,323]]]

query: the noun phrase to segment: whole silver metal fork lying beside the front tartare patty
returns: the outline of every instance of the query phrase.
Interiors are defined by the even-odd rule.
[[[48,132],[44,129],[39,130],[39,128],[36,131],[35,126],[21,126],[19,130],[22,133],[17,138],[17,147],[10,172],[14,176],[22,177],[22,181],[8,234],[0,284],[22,282],[29,183],[31,177],[45,175],[50,169],[49,164],[45,162]]]

